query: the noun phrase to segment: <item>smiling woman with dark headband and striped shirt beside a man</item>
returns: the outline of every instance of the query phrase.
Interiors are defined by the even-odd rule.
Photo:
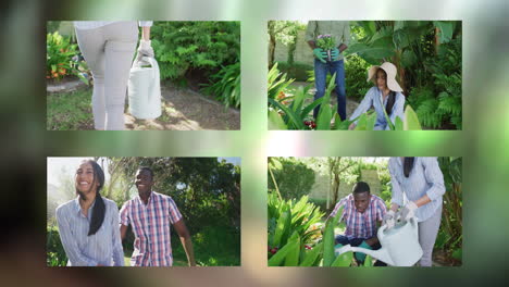
[[[74,178],[78,196],[57,208],[67,266],[123,266],[119,209],[100,195],[104,172],[97,162],[86,160]]]

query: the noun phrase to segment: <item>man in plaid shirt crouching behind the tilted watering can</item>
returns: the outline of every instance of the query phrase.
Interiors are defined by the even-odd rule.
[[[346,223],[345,235],[336,236],[336,244],[350,245],[367,249],[377,250],[381,248],[376,230],[383,221],[387,209],[384,201],[370,192],[370,186],[364,182],[359,182],[353,186],[350,195],[339,200],[327,220],[336,216],[339,208],[344,207],[339,221]],[[356,252],[356,261],[363,264],[364,253]],[[376,261],[375,266],[386,264]]]

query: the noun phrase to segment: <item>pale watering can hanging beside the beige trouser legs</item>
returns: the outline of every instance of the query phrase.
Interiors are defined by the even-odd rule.
[[[150,66],[145,66],[150,65]],[[161,115],[161,86],[159,65],[152,57],[135,60],[128,83],[129,113],[142,120]]]

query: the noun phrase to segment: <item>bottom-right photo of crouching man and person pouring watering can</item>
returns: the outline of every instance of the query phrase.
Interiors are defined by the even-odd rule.
[[[461,266],[462,158],[268,159],[269,266]]]

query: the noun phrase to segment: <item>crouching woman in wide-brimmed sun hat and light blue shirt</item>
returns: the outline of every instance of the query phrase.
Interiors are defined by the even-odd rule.
[[[387,113],[393,124],[396,122],[396,117],[405,121],[405,96],[401,93],[402,89],[398,82],[396,82],[396,66],[389,62],[370,67],[368,82],[373,82],[375,86],[368,90],[364,99],[351,114],[350,121],[365,113],[371,107],[376,112],[375,130],[389,129],[385,113]],[[351,123],[348,129],[353,129],[356,125],[357,122]]]

